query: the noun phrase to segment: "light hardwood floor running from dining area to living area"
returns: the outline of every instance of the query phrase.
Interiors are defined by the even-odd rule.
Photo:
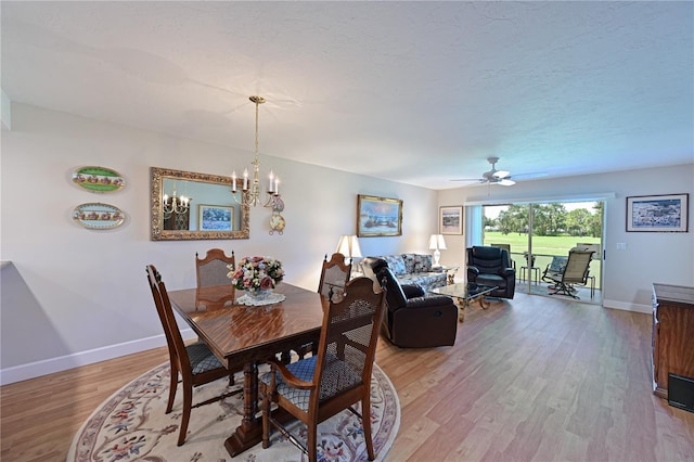
[[[694,413],[651,390],[651,317],[516,294],[468,308],[455,346],[376,362],[402,416],[387,461],[694,461]],[[63,461],[158,348],[1,387],[2,461]],[[220,441],[222,444],[222,441]]]

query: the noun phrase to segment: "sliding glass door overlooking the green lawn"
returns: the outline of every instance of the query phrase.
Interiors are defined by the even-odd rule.
[[[602,235],[604,202],[543,202],[483,206],[484,245],[511,249],[516,288],[547,295],[548,267],[568,257],[571,248],[594,251],[588,284],[576,284],[581,300],[602,303]]]

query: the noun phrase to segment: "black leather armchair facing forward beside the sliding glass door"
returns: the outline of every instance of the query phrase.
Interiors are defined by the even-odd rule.
[[[511,267],[509,252],[491,246],[467,248],[467,282],[497,285],[490,297],[513,298],[516,292],[516,270]]]

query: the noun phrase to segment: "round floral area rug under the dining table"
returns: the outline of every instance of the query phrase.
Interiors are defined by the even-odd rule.
[[[267,368],[267,367],[266,367]],[[262,368],[265,370],[265,368]],[[279,432],[271,435],[271,446],[262,444],[232,458],[224,440],[239,426],[243,415],[243,377],[236,385],[228,378],[198,386],[193,403],[240,389],[221,401],[193,408],[183,446],[176,446],[181,420],[182,390],[176,395],[174,410],[165,414],[168,399],[169,365],[162,364],[116,392],[104,401],[75,435],[67,462],[284,462],[308,458]],[[371,385],[372,434],[376,460],[382,461],[400,425],[400,403],[390,380],[374,364]],[[359,409],[357,409],[359,410]],[[306,444],[306,427],[295,422],[290,427]],[[359,419],[346,410],[318,426],[319,461],[367,461],[367,446]]]

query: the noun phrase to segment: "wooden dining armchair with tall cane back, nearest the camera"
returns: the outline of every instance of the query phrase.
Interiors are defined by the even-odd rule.
[[[384,313],[385,288],[369,278],[357,278],[345,286],[344,298],[330,301],[317,355],[288,364],[268,361],[271,371],[259,381],[264,448],[270,446],[272,425],[291,436],[290,440],[314,462],[318,424],[349,409],[361,418],[369,460],[375,458],[371,438],[371,372]],[[354,408],[359,401],[361,415]],[[272,416],[272,403],[308,427],[306,447]]]

